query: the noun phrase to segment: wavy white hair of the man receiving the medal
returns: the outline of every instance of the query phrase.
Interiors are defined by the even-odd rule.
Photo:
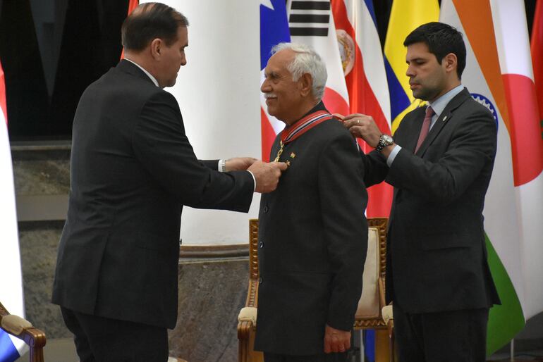
[[[295,54],[294,60],[286,66],[292,74],[292,80],[297,82],[303,74],[309,73],[313,80],[312,94],[315,98],[322,99],[328,74],[319,54],[310,46],[300,43],[279,43],[271,48],[271,54],[284,49],[291,49]]]

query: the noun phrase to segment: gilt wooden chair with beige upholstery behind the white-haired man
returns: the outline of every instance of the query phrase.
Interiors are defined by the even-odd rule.
[[[384,301],[384,277],[386,268],[386,225],[387,218],[367,220],[368,249],[363,275],[362,296],[355,314],[356,330],[374,329],[377,335],[376,362],[389,360],[387,325],[382,318]],[[254,351],[258,307],[258,220],[249,220],[249,289],[245,307],[238,316],[238,361],[263,361],[262,353]],[[379,333],[378,332],[378,333]]]

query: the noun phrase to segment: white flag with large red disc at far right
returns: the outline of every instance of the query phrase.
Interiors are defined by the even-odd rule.
[[[518,247],[525,286],[543,282],[543,139],[535,94],[523,0],[491,0],[501,78],[509,115],[513,182],[520,227]],[[520,298],[527,320],[543,311],[543,289],[526,287]]]

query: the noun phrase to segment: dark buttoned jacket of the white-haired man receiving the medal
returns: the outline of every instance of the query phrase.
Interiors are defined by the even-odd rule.
[[[324,109],[319,104],[317,109]],[[270,159],[279,150],[279,137]],[[255,349],[324,353],[326,324],[353,327],[367,249],[367,193],[355,141],[327,120],[286,144],[291,166],[260,201]]]

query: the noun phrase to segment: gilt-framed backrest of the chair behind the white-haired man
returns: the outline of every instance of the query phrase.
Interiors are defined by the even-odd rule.
[[[387,218],[368,218],[367,256],[362,275],[362,295],[355,313],[357,329],[386,328],[381,317],[384,306]],[[249,289],[246,306],[258,304],[258,220],[249,220]]]

